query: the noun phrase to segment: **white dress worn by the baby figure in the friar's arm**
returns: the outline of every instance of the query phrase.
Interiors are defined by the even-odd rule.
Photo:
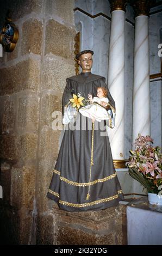
[[[92,101],[94,103],[80,108],[79,112],[84,115],[84,117],[95,118],[98,122],[101,122],[101,120],[109,120],[111,118],[109,113],[104,107],[99,105],[101,104],[101,101],[108,103],[109,99],[107,97],[94,97]],[[98,104],[95,102],[97,102]]]

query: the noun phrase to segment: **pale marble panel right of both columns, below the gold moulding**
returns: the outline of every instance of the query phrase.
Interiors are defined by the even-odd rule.
[[[151,137],[154,147],[161,144],[161,81],[150,83]]]

